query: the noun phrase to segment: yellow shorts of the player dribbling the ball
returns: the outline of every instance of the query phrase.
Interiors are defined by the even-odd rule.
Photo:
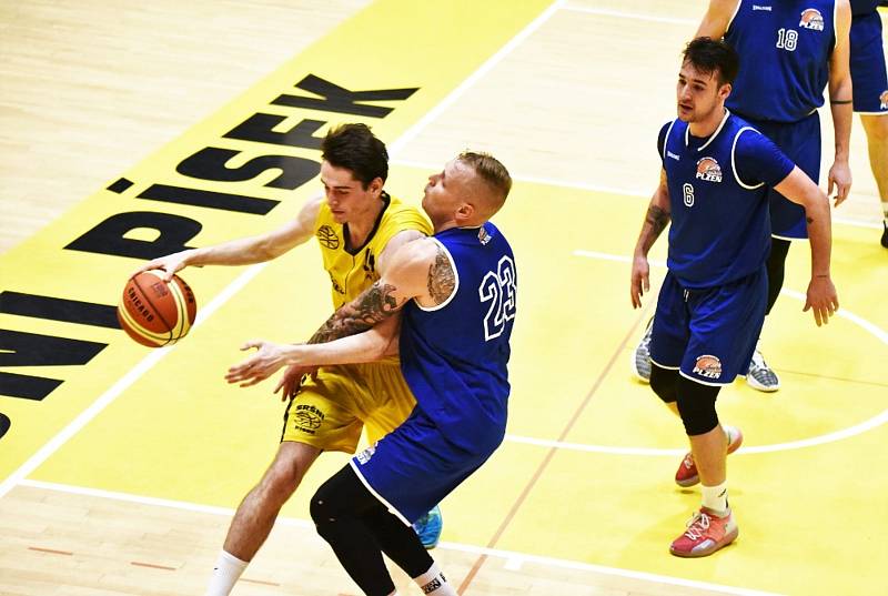
[[[404,422],[414,405],[396,363],[325,366],[286,406],[281,441],[354,453],[364,425],[373,444]]]

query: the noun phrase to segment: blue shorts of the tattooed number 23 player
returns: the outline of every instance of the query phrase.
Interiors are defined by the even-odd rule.
[[[473,436],[473,451],[458,448],[421,407],[404,424],[375,445],[352,457],[350,464],[371,493],[405,524],[412,524],[441,503],[496,451],[505,435],[490,427]]]

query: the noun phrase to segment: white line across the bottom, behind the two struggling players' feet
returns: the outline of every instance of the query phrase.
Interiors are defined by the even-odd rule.
[[[168,507],[172,509],[198,512],[210,515],[220,515],[231,517],[234,515],[234,509],[225,507],[214,507],[210,505],[199,505],[195,503],[186,503],[182,501],[172,501],[167,498],[154,498],[139,495],[130,495],[127,493],[114,493],[111,491],[100,491],[97,488],[87,488],[83,486],[71,486],[67,484],[56,484],[41,481],[23,479],[19,483],[21,486],[30,486],[33,488],[41,488],[44,491],[54,491],[58,493],[68,493],[73,495],[84,495],[99,498],[107,498],[111,501],[122,501],[127,503],[139,503],[142,505],[154,505],[160,507]],[[279,517],[278,523],[291,527],[299,527],[303,529],[313,529],[314,524],[305,519],[296,519],[294,517]],[[314,533],[312,533],[314,536]],[[319,538],[320,539],[320,538]],[[473,544],[460,544],[443,542],[437,545],[442,550],[454,550],[457,553],[468,553],[473,555],[487,555],[488,557],[502,558],[505,560],[504,568],[517,572],[525,563],[535,563],[547,567],[559,567],[563,569],[575,569],[592,572],[602,575],[612,575],[616,577],[624,577],[630,579],[640,579],[644,582],[657,582],[660,584],[669,584],[673,586],[692,587],[699,589],[708,589],[722,594],[735,594],[737,596],[779,596],[771,592],[759,592],[748,588],[740,588],[734,586],[723,586],[719,584],[709,584],[706,582],[696,582],[693,579],[683,579],[680,577],[670,577],[667,575],[656,575],[645,572],[634,572],[630,569],[620,569],[617,567],[605,567],[603,565],[593,565],[591,563],[583,563],[579,560],[571,560],[554,557],[544,557],[531,555],[527,553],[517,553],[515,550],[501,550],[497,548],[487,548],[484,546],[476,546]]]

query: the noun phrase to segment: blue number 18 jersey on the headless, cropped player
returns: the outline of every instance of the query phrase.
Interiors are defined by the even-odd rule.
[[[740,57],[726,105],[777,122],[801,120],[823,105],[835,17],[835,0],[741,0],[725,33]]]

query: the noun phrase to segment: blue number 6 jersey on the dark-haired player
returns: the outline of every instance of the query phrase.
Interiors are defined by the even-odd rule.
[[[658,145],[669,189],[669,271],[689,289],[758,271],[770,250],[767,191],[793,162],[727,110],[708,139],[675,120]]]

